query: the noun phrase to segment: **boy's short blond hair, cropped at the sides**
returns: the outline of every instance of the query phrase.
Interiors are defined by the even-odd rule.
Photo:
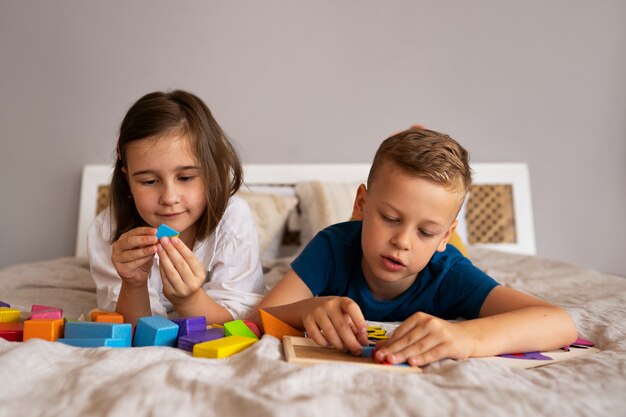
[[[450,136],[433,130],[414,127],[385,139],[374,156],[368,188],[386,162],[458,192],[461,199],[472,183],[468,152]]]

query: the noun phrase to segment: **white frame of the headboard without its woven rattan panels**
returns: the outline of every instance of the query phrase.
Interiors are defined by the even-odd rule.
[[[253,190],[268,192],[278,185],[294,185],[304,181],[365,181],[370,164],[248,164],[244,165],[244,181]],[[474,163],[474,185],[506,184],[511,186],[515,220],[515,242],[474,243],[481,247],[506,252],[534,255],[535,229],[530,195],[528,166],[523,163]],[[83,168],[76,236],[77,257],[87,256],[87,231],[96,216],[98,187],[110,183],[111,167],[87,165]],[[462,219],[457,230],[467,240]]]

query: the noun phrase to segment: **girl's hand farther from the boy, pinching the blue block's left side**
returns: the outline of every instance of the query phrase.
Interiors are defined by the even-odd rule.
[[[111,261],[126,285],[145,286],[157,252],[156,229],[137,227],[113,243]]]

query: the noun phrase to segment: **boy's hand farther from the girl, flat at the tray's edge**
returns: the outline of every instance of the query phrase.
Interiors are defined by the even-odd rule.
[[[389,340],[379,343],[375,359],[424,366],[444,358],[467,359],[475,343],[460,322],[450,323],[426,313],[415,313]]]

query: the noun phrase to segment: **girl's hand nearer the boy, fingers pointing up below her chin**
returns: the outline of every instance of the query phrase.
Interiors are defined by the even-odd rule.
[[[207,272],[191,249],[177,237],[161,238],[158,252],[163,294],[176,307],[201,290]]]

